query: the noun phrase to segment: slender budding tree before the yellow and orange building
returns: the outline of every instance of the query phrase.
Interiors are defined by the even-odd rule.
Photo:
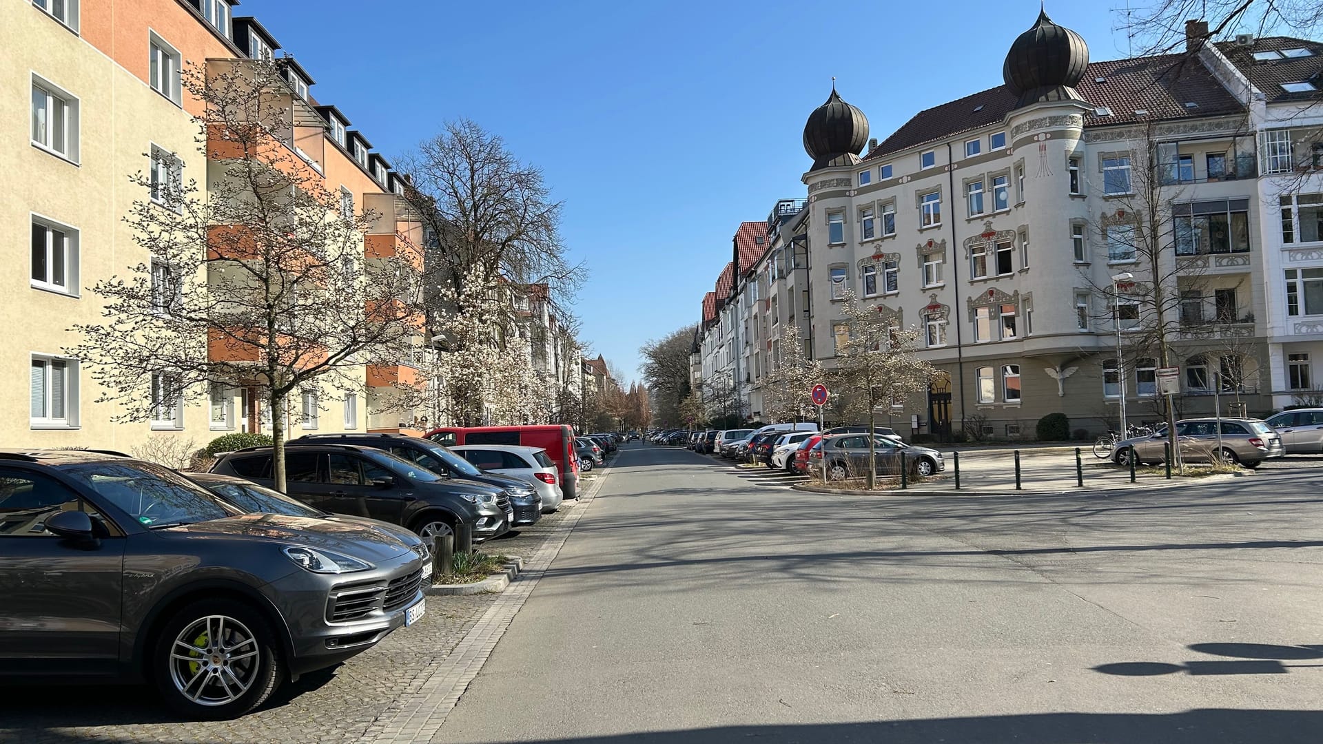
[[[324,135],[300,131],[277,64],[191,68],[184,85],[218,169],[205,189],[163,179],[179,168],[168,160],[132,177],[143,199],[124,221],[151,258],[91,287],[105,320],[75,326],[67,351],[120,420],[160,417],[210,384],[259,388],[283,490],[287,398],[359,389],[365,364],[405,360],[422,332],[418,270],[407,252],[365,259],[376,216],[347,209],[302,154],[300,136]]]

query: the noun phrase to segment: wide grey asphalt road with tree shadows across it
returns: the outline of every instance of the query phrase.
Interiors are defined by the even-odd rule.
[[[1314,473],[832,496],[631,445],[437,740],[1316,743]]]

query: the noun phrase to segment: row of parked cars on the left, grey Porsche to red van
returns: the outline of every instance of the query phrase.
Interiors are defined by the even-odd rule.
[[[188,718],[234,718],[423,617],[430,539],[490,540],[577,498],[569,426],[284,447],[284,492],[271,447],[210,473],[0,451],[0,679],[149,682]]]

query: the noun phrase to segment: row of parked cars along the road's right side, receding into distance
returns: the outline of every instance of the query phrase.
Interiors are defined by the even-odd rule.
[[[816,424],[771,424],[759,429],[662,432],[650,441],[828,481],[857,477],[868,470],[868,426],[819,432]],[[904,469],[912,475],[927,477],[946,469],[942,453],[909,445],[886,426],[873,428],[873,458],[875,471],[882,475],[898,475]]]

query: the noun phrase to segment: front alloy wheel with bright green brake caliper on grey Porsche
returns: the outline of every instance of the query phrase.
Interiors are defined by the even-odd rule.
[[[198,706],[225,706],[253,687],[262,661],[246,625],[221,614],[191,622],[175,637],[169,674],[175,688]]]

